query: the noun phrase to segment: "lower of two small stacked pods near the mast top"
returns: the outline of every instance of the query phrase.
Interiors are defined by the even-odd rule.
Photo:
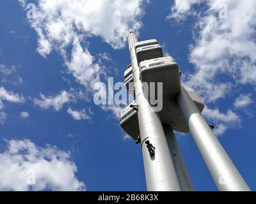
[[[163,57],[163,48],[160,45],[148,45],[136,49],[138,64],[140,62]]]

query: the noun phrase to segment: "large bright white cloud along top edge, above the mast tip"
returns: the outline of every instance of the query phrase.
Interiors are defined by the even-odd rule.
[[[64,47],[77,36],[94,35],[113,48],[121,48],[129,29],[138,31],[141,27],[142,3],[142,0],[40,0],[32,25],[36,31],[42,31],[45,40],[51,43],[56,40]]]

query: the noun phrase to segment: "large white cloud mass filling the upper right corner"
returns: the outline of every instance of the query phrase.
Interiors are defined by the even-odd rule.
[[[183,10],[177,7],[177,2],[173,11],[186,10],[186,4],[189,8],[199,2],[206,4],[206,10],[197,15],[195,44],[190,47],[189,61],[195,65],[195,72],[185,75],[185,84],[207,102],[223,98],[234,85],[255,85],[256,1],[180,0],[179,4],[185,5]],[[227,18],[221,18],[223,11]],[[227,78],[221,80],[220,76]]]

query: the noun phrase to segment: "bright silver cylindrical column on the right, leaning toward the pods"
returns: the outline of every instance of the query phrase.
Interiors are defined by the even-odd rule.
[[[184,87],[177,96],[177,103],[218,189],[250,191]]]

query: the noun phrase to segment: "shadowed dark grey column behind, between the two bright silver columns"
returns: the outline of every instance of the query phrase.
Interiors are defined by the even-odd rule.
[[[175,170],[179,179],[181,190],[194,191],[193,184],[191,182],[191,179],[189,178],[188,170],[186,168],[186,164],[184,163],[184,159],[180,152],[179,145],[173,133],[173,129],[171,126],[168,125],[163,126],[163,128],[168,147],[172,155],[173,164],[175,166]]]

